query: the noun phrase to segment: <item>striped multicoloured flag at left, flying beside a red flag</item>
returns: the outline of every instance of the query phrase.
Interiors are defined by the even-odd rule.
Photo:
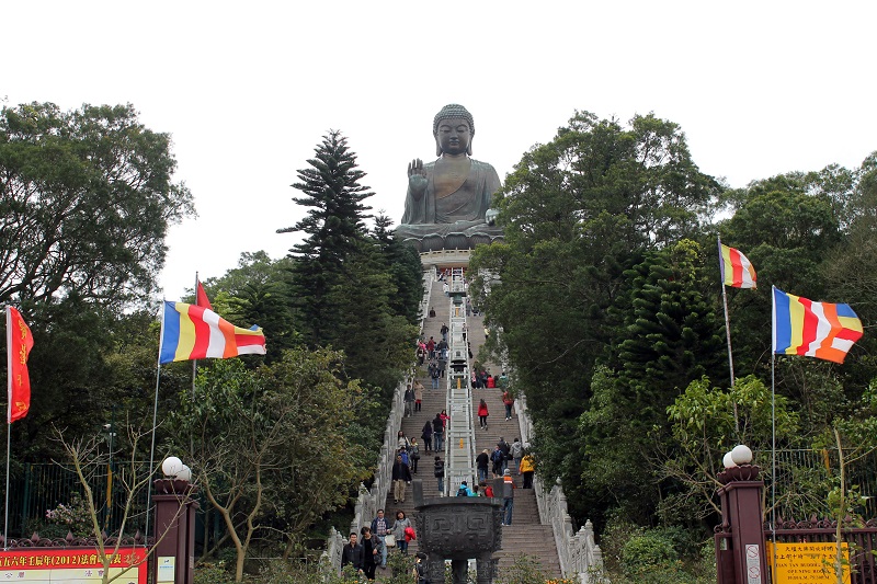
[[[264,355],[262,329],[235,327],[208,308],[164,302],[159,363]]]

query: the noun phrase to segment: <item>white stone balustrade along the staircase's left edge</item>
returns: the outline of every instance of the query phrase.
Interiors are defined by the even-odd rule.
[[[428,311],[430,309],[430,291],[432,289],[432,282],[435,279],[435,271],[430,270],[423,274],[423,300],[420,304],[420,332],[423,333],[423,327],[426,322]],[[392,404],[390,406],[390,414],[387,416],[387,425],[384,430],[384,444],[380,446],[380,455],[375,469],[375,480],[372,482],[372,488],[366,489],[365,484],[360,483],[360,496],[356,499],[354,507],[353,520],[350,524],[350,531],[358,534],[364,525],[371,525],[372,518],[377,516],[377,509],[384,505],[384,497],[390,490],[392,483],[392,462],[396,460],[396,446],[397,435],[399,428],[402,426],[402,415],[405,414],[405,390],[408,383],[412,383],[417,376],[415,370],[411,370],[409,375],[396,386],[396,391],[392,396]],[[341,543],[339,545],[339,539]],[[329,539],[327,542],[326,556],[330,565],[335,570],[341,570],[341,551],[344,542],[348,540],[344,535],[331,528]]]

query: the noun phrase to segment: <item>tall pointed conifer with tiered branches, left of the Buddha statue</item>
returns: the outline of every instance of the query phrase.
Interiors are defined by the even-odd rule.
[[[310,168],[298,171],[292,186],[304,196],[294,197],[309,207],[307,216],[278,233],[304,231],[306,239],[293,247],[293,294],[300,309],[299,327],[311,346],[326,345],[337,329],[338,311],[330,291],[343,279],[345,262],[366,236],[364,220],[371,207],[363,201],[374,193],[360,181],[365,172],[356,167],[356,154],[339,130],[329,130],[308,160]]]

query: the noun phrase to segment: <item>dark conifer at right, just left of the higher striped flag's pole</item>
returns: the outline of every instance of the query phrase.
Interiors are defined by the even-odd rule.
[[[625,272],[624,294],[610,311],[617,336],[603,359],[608,367],[580,417],[584,496],[612,501],[607,506],[629,519],[648,523],[669,488],[658,489],[656,474],[667,408],[692,380],[727,374],[702,253],[683,240]],[[617,465],[622,458],[627,463]]]

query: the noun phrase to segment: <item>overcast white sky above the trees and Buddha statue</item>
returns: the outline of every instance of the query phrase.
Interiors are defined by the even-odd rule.
[[[676,122],[731,186],[877,150],[873,1],[7,1],[0,21],[7,104],[129,102],[173,136],[198,217],[171,229],[169,299],[286,253],[289,184],[329,128],[398,222],[446,103],[501,178],[576,110]]]

